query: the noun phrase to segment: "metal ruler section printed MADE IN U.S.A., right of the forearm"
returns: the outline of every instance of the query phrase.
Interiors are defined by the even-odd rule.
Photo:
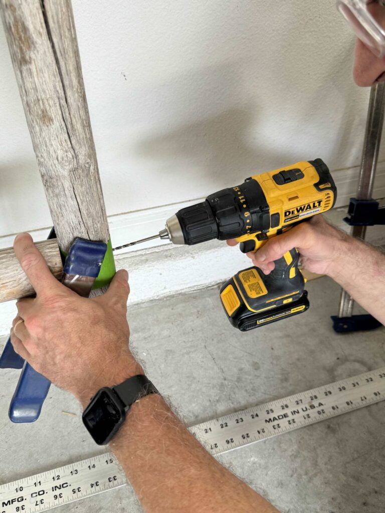
[[[383,399],[385,372],[381,368],[231,413],[192,429],[208,450],[219,454]],[[225,436],[226,431],[232,436]]]

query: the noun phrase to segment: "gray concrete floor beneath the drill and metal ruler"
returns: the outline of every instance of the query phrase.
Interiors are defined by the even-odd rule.
[[[339,287],[321,278],[307,289],[309,311],[248,333],[227,324],[218,287],[134,305],[128,309],[132,347],[187,424],[385,365],[384,328],[335,334],[329,317]],[[55,387],[40,420],[11,424],[17,377],[15,370],[0,372],[0,484],[101,452],[82,426],[79,405]],[[285,513],[378,513],[385,509],[384,423],[382,402],[220,459]],[[129,487],[60,511],[112,509],[141,511]]]

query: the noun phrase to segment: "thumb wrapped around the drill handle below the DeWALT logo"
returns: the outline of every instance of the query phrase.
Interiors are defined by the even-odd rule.
[[[304,249],[311,245],[312,229],[306,225],[307,223],[300,224],[268,240],[254,253],[252,257],[254,263],[259,265],[274,262],[293,248]]]

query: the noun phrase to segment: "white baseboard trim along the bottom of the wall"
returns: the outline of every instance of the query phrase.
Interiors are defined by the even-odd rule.
[[[358,168],[334,173],[339,193],[337,205],[347,204],[349,198],[354,196],[357,173]],[[385,196],[385,163],[378,166],[373,195],[375,198]],[[113,245],[119,246],[157,233],[163,228],[165,220],[177,210],[198,201],[196,199],[110,216]],[[342,222],[345,211],[346,208],[335,208],[326,217],[341,229],[348,230],[349,227]],[[47,228],[32,232],[35,241],[44,240],[47,234]],[[0,246],[11,246],[13,238],[14,235],[0,238]],[[383,228],[370,227],[367,240],[385,244]],[[168,241],[159,240],[155,244],[150,241],[147,245],[130,249],[115,254],[117,268],[126,268],[130,274],[129,304],[166,298],[168,295],[218,284],[249,265],[248,258],[237,247],[229,248],[221,241],[210,241],[198,246],[174,246]],[[15,312],[14,302],[0,304],[0,335],[9,332]]]

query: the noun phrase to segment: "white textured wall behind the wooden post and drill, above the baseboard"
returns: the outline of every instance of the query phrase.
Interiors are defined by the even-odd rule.
[[[353,83],[354,37],[334,0],[73,9],[109,215],[297,160],[322,157],[336,175],[359,164],[368,90]],[[49,226],[2,29],[0,145],[0,236]]]

